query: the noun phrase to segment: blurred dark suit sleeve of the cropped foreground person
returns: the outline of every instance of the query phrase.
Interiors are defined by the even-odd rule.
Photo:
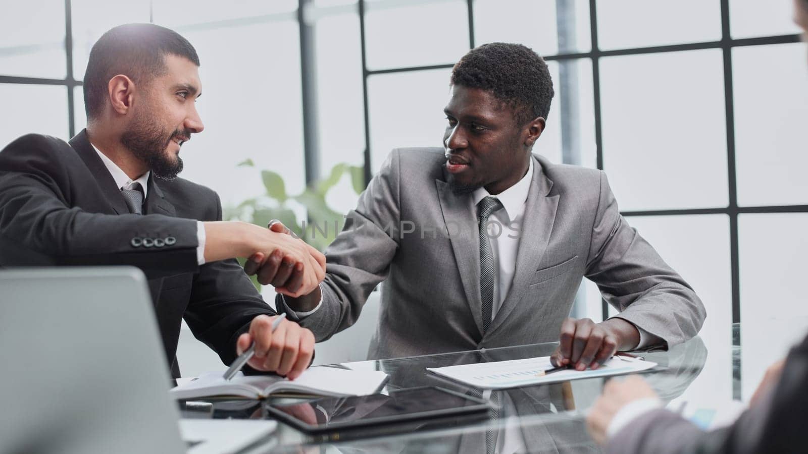
[[[669,410],[654,410],[635,418],[607,444],[607,452],[633,454],[802,452],[808,421],[808,337],[794,347],[781,379],[758,405],[731,426],[701,431]]]

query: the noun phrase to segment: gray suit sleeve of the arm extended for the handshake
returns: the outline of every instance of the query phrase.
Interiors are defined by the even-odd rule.
[[[394,149],[389,154],[326,249],[322,305],[300,322],[317,342],[353,325],[370,292],[389,274],[401,238],[398,153]],[[280,295],[276,307],[283,310]]]

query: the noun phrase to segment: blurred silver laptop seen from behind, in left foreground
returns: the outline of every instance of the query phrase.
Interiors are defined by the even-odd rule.
[[[183,441],[134,267],[0,271],[0,364],[3,453],[237,452],[276,425],[183,420]]]

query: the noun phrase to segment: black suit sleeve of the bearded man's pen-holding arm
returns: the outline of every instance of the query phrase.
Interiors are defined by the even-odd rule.
[[[213,194],[216,215],[204,221],[221,221],[221,202]],[[183,317],[196,338],[216,351],[224,364],[232,364],[236,339],[250,330],[252,319],[261,314],[273,316],[276,312],[263,301],[238,261],[227,259],[200,267]]]

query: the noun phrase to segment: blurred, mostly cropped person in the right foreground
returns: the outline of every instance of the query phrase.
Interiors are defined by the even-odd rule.
[[[794,0],[794,22],[808,35],[808,0]],[[702,431],[662,408],[639,376],[610,380],[587,415],[592,437],[606,452],[808,452],[808,337],[768,369],[750,406],[729,427]]]

